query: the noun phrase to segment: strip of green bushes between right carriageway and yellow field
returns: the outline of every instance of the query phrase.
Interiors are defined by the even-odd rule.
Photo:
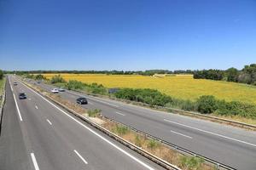
[[[44,76],[33,76],[34,79],[36,79],[36,77],[47,80]],[[67,89],[80,90],[90,94],[110,95],[114,98],[141,102],[149,106],[164,106],[183,111],[200,112],[201,114],[229,116],[231,118],[233,116],[236,117],[238,121],[239,118],[241,118],[241,121],[244,121],[243,118],[256,120],[255,104],[241,101],[226,101],[224,99],[217,99],[213,95],[201,95],[195,100],[178,99],[149,88],[119,88],[117,92],[108,94],[108,88],[104,87],[102,84],[95,82],[88,84],[77,80],[69,80],[67,82],[61,75],[51,77],[48,79],[48,82]]]

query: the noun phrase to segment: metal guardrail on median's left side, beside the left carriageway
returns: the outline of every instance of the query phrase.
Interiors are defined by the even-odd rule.
[[[23,82],[24,83],[24,82]],[[26,82],[24,83],[26,85],[26,87],[28,88],[32,88],[31,86],[27,85]],[[72,109],[68,108],[66,105],[62,105],[60,102],[56,101],[55,99],[50,98],[49,96],[42,94],[41,92],[39,92],[36,88],[32,88],[35,92],[37,92],[38,94],[44,96],[46,99],[49,99],[51,101],[53,101],[55,104],[61,106],[61,108],[64,108],[65,110],[71,112],[73,115],[78,116],[80,119],[82,119],[83,121],[89,123],[92,127],[96,127],[96,129],[100,130],[102,133],[107,134],[109,137],[119,141],[121,144],[124,144],[125,146],[129,147],[131,150],[135,150],[137,153],[139,153],[142,156],[147,157],[149,160],[154,161],[156,164],[160,165],[161,167],[164,167],[168,170],[181,170],[179,167],[172,165],[171,163],[164,161],[162,159],[160,159],[157,156],[152,155],[151,153],[149,153],[146,150],[143,150],[142,148],[138,147],[135,144],[131,144],[131,142],[122,139],[121,137],[119,137],[118,135],[110,132],[108,129],[98,125],[96,122],[92,122],[89,118],[80,115],[79,113],[77,113],[76,111],[73,111]]]

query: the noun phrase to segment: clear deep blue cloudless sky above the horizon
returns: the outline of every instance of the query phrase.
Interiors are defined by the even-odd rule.
[[[256,0],[0,0],[0,69],[241,69]]]

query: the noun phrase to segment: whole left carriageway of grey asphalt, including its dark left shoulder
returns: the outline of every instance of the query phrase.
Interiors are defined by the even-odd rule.
[[[6,85],[0,170],[162,169],[15,81]]]

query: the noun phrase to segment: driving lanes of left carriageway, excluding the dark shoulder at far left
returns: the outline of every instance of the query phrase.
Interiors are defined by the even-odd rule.
[[[93,127],[85,126],[77,117],[63,114],[63,111],[49,105],[21,83],[18,86],[14,89],[15,95],[23,91],[31,98],[18,100],[17,103],[29,134],[31,145],[28,148],[36,157],[40,170],[162,169],[105,134],[92,130]],[[38,110],[35,109],[34,103],[37,103]],[[47,119],[53,126],[49,126],[49,122],[45,121]],[[86,157],[88,165],[77,159],[73,150],[78,150],[80,156]],[[34,161],[32,162],[35,165]]]

